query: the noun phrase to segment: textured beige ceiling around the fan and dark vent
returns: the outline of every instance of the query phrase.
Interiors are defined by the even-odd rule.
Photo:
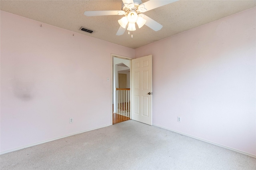
[[[147,0],[142,0],[146,2]],[[143,26],[116,36],[122,16],[84,16],[85,11],[121,10],[122,0],[1,0],[1,10],[130,48],[162,40],[256,6],[256,0],[180,0],[144,12],[163,28]],[[82,32],[81,26],[94,30]]]

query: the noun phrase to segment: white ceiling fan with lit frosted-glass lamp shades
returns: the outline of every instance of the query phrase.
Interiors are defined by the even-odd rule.
[[[153,19],[149,18],[143,12],[153,10],[160,6],[164,6],[170,4],[172,2],[176,2],[178,0],[149,0],[147,2],[142,3],[141,0],[122,0],[122,10],[112,10],[112,11],[86,11],[84,12],[85,16],[104,16],[104,15],[124,15],[123,18],[118,20],[120,24],[120,28],[118,29],[116,35],[123,35],[126,28],[128,30],[128,34],[130,31],[135,31],[136,26],[138,28],[144,26],[148,26],[154,31],[159,31],[162,29],[162,25]]]

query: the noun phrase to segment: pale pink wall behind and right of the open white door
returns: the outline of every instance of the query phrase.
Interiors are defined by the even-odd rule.
[[[153,124],[256,156],[255,48],[252,8],[135,49],[153,55]]]

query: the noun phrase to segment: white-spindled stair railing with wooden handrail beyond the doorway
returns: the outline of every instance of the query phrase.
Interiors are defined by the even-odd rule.
[[[130,89],[119,89],[117,91],[117,114],[130,117]]]

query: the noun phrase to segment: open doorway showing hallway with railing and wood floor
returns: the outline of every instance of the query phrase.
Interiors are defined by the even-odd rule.
[[[112,56],[112,124],[131,119],[131,59]]]

